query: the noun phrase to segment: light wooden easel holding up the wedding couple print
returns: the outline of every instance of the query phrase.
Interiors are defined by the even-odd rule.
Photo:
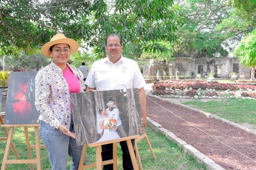
[[[96,167],[97,170],[101,170],[102,165],[108,165],[108,164],[113,164],[113,169],[117,170],[117,142],[120,141],[125,141],[127,142],[128,150],[131,156],[131,162],[134,170],[139,169],[136,161],[136,157],[133,151],[131,139],[136,139],[140,137],[140,135],[134,135],[134,136],[128,136],[128,137],[123,137],[115,140],[110,140],[110,141],[105,141],[105,142],[99,142],[99,143],[90,143],[87,145],[83,145],[81,157],[80,157],[80,162],[79,162],[79,170],[86,169],[86,168],[93,168]],[[106,145],[109,143],[113,143],[113,159],[110,160],[101,160],[101,145]],[[89,165],[84,165],[84,159],[85,159],[85,154],[86,154],[86,149],[88,147],[96,147],[96,162],[89,164]]]

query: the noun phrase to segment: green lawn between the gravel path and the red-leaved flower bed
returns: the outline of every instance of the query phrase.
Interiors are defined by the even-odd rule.
[[[255,100],[247,99],[225,99],[203,102],[200,99],[183,102],[193,108],[213,113],[221,118],[235,123],[250,123],[256,125]]]

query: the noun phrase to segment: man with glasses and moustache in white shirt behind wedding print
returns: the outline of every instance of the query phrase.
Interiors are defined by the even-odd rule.
[[[116,90],[138,88],[144,126],[147,125],[146,96],[144,91],[145,81],[138,64],[122,56],[123,45],[121,37],[110,34],[105,39],[105,51],[108,57],[93,63],[88,73],[85,84],[87,91]],[[134,139],[132,140],[134,146]],[[123,168],[133,169],[131,157],[126,141],[121,141],[123,151]],[[113,144],[102,145],[102,160],[113,158]],[[103,170],[113,169],[113,164],[104,165]]]

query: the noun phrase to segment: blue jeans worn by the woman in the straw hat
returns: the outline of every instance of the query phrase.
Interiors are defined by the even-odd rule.
[[[69,131],[74,128],[73,118]],[[40,124],[39,136],[43,139],[47,149],[52,170],[66,170],[68,155],[72,157],[71,170],[77,170],[83,146],[76,146],[76,140],[64,135],[57,129],[53,129],[48,123],[42,121]],[[87,160],[87,153],[84,164]]]

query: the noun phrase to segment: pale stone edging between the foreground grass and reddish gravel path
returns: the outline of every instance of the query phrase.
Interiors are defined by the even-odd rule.
[[[167,129],[162,128],[162,125],[160,125],[159,123],[153,121],[148,117],[147,117],[147,120],[148,120],[147,125],[153,131],[158,132],[163,136],[166,136],[167,139],[176,143],[177,146],[183,150],[183,152],[193,156],[198,164],[201,164],[201,165],[204,164],[208,170],[225,170],[220,165],[216,164],[212,159],[208,158],[207,156],[199,152],[197,149],[195,149],[191,145],[188,145],[184,140],[178,138],[176,135],[174,135],[172,132],[168,131]]]

